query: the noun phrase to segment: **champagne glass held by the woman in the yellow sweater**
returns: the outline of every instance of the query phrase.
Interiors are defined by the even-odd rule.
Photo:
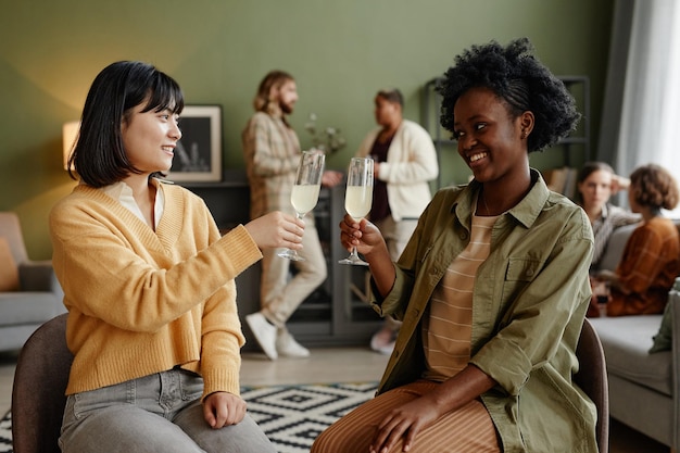
[[[295,184],[290,192],[290,202],[298,218],[304,217],[318,202],[325,159],[324,153],[318,150],[302,151]],[[292,261],[304,261],[295,250],[286,249],[278,255]]]

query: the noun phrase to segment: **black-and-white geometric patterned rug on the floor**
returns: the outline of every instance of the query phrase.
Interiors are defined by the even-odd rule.
[[[374,397],[377,382],[244,387],[248,412],[279,453],[307,453],[331,423]],[[12,453],[11,414],[0,420],[0,453]]]

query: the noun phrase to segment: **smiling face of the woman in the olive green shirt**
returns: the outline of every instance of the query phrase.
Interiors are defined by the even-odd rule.
[[[471,88],[454,105],[458,154],[480,183],[512,184],[528,174],[527,136],[533,114],[513,118],[506,102],[488,88]]]

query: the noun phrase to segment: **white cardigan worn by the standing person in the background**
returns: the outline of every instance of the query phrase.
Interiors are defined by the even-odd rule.
[[[370,153],[374,141],[382,130],[368,133],[356,155]],[[387,197],[392,218],[418,218],[430,199],[429,180],[439,174],[437,151],[432,138],[420,125],[403,119],[390,143],[387,162],[380,162],[376,178],[387,183]]]

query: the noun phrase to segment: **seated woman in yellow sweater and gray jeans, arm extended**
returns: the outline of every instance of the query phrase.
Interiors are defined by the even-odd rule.
[[[203,200],[164,184],[182,108],[141,62],[106,66],[88,92],[80,180],[50,213],[74,354],[64,453],[275,452],[239,397],[234,278],[261,248],[300,249],[304,224],[272,213],[222,237]]]

